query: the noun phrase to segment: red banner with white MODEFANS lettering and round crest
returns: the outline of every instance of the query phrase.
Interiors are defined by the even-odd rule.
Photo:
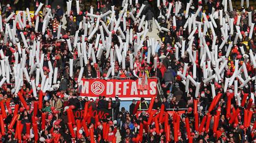
[[[151,98],[157,94],[157,79],[148,79],[148,90],[138,90],[138,79],[82,79],[78,84],[80,96],[89,97],[119,97],[133,98],[144,97]]]

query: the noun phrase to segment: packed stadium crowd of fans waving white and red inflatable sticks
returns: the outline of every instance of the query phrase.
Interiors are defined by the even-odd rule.
[[[38,9],[40,2],[35,1],[34,11]],[[127,2],[127,7],[125,2]],[[253,61],[256,59],[254,56],[256,15],[253,7],[232,8],[227,6],[230,5],[229,1],[219,0],[166,0],[161,1],[159,7],[156,7],[157,1],[136,2],[97,0],[95,4],[86,7],[84,1],[79,1],[80,11],[77,11],[77,5],[73,1],[68,11],[67,5],[63,7],[57,5],[56,8],[52,8],[52,2],[48,1],[48,5],[43,5],[41,8],[42,13],[31,15],[31,20],[27,18],[26,10],[21,6],[22,1],[1,3],[0,79],[4,81],[0,89],[2,142],[116,142],[117,132],[120,133],[121,142],[125,143],[256,142],[254,106],[256,61]],[[188,4],[190,7],[186,9]],[[169,7],[169,5],[172,6]],[[30,7],[30,3],[27,2],[24,6]],[[144,8],[140,11],[142,6]],[[124,7],[127,13],[122,14],[121,10]],[[201,10],[194,16],[199,8]],[[24,13],[19,13],[21,9],[25,10]],[[224,9],[227,9],[225,13]],[[90,33],[97,25],[97,18],[88,16],[88,14],[102,15],[108,11],[114,11],[114,15],[103,16],[99,24],[100,27],[107,25],[110,34],[105,28],[102,28],[103,33],[101,33],[101,28],[99,28],[89,39]],[[7,20],[12,13],[19,14]],[[219,20],[220,13],[224,17],[223,20]],[[195,17],[194,21],[188,22],[186,14],[192,17],[191,20]],[[206,18],[203,17],[204,14]],[[207,22],[214,23],[210,15],[214,16],[216,24],[214,31],[205,26]],[[143,18],[145,23],[140,26]],[[39,19],[38,24],[37,19]],[[116,24],[115,21],[119,19],[120,24],[117,28],[121,30],[115,30],[115,32],[112,22]],[[234,23],[230,23],[230,19]],[[45,27],[47,20],[49,22]],[[237,20],[240,21],[237,22]],[[160,40],[154,40],[149,36],[143,38],[143,33],[147,29],[149,33],[153,31],[155,21],[160,26],[158,33]],[[231,24],[233,31],[231,31]],[[60,38],[57,38],[60,26],[61,34]],[[84,26],[88,27],[84,28]],[[163,30],[164,28],[167,30]],[[253,33],[250,37],[251,29]],[[190,34],[194,30],[193,38],[191,38]],[[127,32],[132,32],[132,34],[127,34]],[[25,39],[21,33],[24,34]],[[77,38],[75,38],[76,35]],[[100,40],[97,40],[97,35],[101,35]],[[104,45],[104,42],[110,39],[109,36],[112,42],[109,46]],[[129,36],[128,41],[126,41],[127,36]],[[205,41],[202,41],[202,36]],[[68,39],[71,41],[71,49]],[[184,55],[182,55],[182,48],[179,47],[179,45],[183,46],[183,41],[185,43]],[[143,46],[138,50],[137,43],[139,42]],[[154,48],[152,48],[153,42]],[[78,48],[79,44],[82,48]],[[35,45],[37,48],[34,47]],[[104,50],[101,56],[98,56],[100,45],[103,45]],[[127,52],[124,66],[123,61],[121,63],[118,60],[118,55],[110,59],[107,48],[115,49],[115,45],[122,47],[120,53],[125,50]],[[218,50],[216,55],[213,52],[214,46]],[[93,49],[90,52],[94,54],[91,55],[97,55],[97,58],[93,59],[93,56],[88,54],[90,57],[88,59],[86,57],[86,60],[81,62],[79,57],[83,53],[81,54],[79,50],[83,51],[83,48],[85,51],[89,48]],[[202,48],[205,48],[204,51],[207,51],[206,48],[210,49],[204,60],[202,60],[202,55],[206,52],[201,52]],[[152,52],[149,49],[155,51]],[[34,56],[36,51],[40,53],[40,60],[39,54],[38,59]],[[178,54],[176,54],[177,51]],[[154,54],[148,57],[148,52]],[[193,53],[194,59],[191,59],[189,52]],[[33,58],[31,53],[33,53]],[[130,59],[130,54],[133,55],[133,59]],[[212,60],[215,58],[217,58],[216,63],[222,62],[218,64],[218,67],[216,67],[217,64],[213,65]],[[73,74],[69,70],[70,59],[73,59]],[[114,60],[114,65],[111,63],[112,60]],[[43,69],[42,73],[35,69],[32,71],[36,63],[38,64],[36,69]],[[206,77],[202,66],[208,66]],[[217,80],[205,82],[208,79],[207,75],[211,77],[214,73],[220,74],[216,71],[222,66],[224,67],[222,78],[217,77]],[[45,87],[37,84],[37,91],[34,94],[31,80],[37,79],[37,74],[40,74],[39,83],[45,82],[44,76],[50,77],[50,74],[53,76],[51,71],[53,67],[57,67],[55,83],[57,86],[43,92]],[[85,68],[82,78],[137,79],[145,75],[157,77],[164,95],[154,97],[150,102],[144,98],[140,101],[133,100],[129,111],[120,105],[118,96],[114,99],[106,98],[104,95],[97,99],[81,97],[77,91],[77,79],[81,67]],[[114,67],[114,73],[108,75],[110,67]],[[27,69],[29,73],[32,71],[30,79],[27,79],[26,72],[22,68]],[[194,68],[196,68],[195,71],[193,71]],[[197,85],[193,82],[187,84],[187,80],[184,80],[184,77],[178,73],[182,73],[187,80],[191,77],[199,83],[199,91],[196,91]],[[231,79],[233,74],[237,74],[236,85],[226,84],[227,78]],[[245,81],[247,81],[246,86],[241,86]],[[216,96],[213,97],[213,94]],[[95,117],[95,121],[91,122],[92,109],[113,109],[113,116],[107,116],[103,120]],[[168,114],[168,109],[176,110]],[[83,118],[74,120],[71,114],[80,110],[85,111]],[[141,112],[138,114],[138,111]],[[184,111],[184,113],[179,111]]]

